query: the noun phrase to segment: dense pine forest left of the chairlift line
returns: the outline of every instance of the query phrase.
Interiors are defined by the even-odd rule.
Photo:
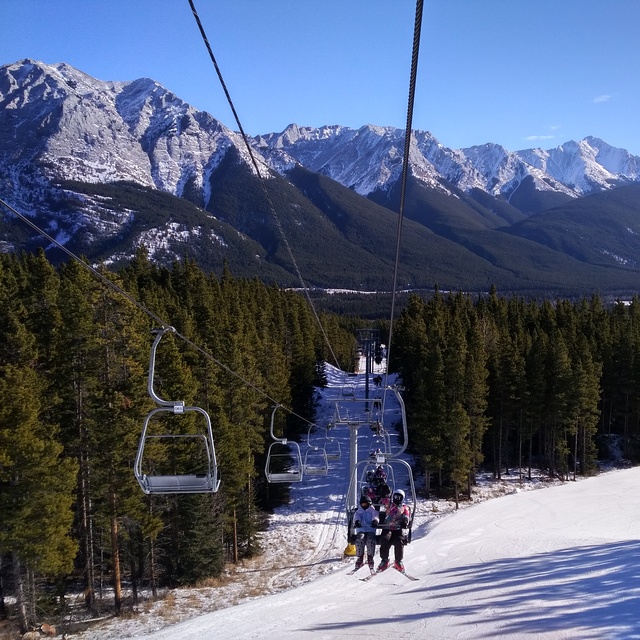
[[[318,363],[329,357],[296,293],[206,276],[190,262],[160,269],[144,253],[106,275],[144,308],[78,262],[55,270],[42,253],[0,256],[0,584],[18,596],[25,624],[35,616],[34,578],[58,585],[57,600],[38,605],[40,617],[64,610],[65,576],[93,612],[95,589],[108,580],[120,613],[125,580],[137,598],[142,582],[154,593],[193,584],[258,553],[261,514],[279,497],[273,488],[267,495],[261,473],[271,405],[295,416],[280,432],[306,431]],[[199,347],[169,334],[158,348],[156,390],[210,414],[216,494],[150,497],[134,478],[143,420],[155,406],[146,392],[157,322],[144,309]],[[336,316],[322,322],[336,357],[353,362],[353,334]]]

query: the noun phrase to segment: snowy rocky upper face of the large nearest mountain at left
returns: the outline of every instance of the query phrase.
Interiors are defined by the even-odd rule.
[[[132,181],[204,204],[227,150],[247,158],[238,134],[157,82],[103,82],[64,63],[0,67],[0,123],[0,165],[17,190],[35,172]]]

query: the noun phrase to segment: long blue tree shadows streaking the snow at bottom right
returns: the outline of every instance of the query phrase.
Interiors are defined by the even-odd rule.
[[[442,618],[448,620],[446,626],[452,632],[457,624],[477,624],[474,638],[555,631],[566,637],[571,630],[582,639],[640,638],[638,540],[472,564],[439,571],[434,578],[429,586],[412,589],[416,600],[421,592],[426,592],[427,600],[434,600],[437,608],[432,611],[314,629],[375,628],[395,622],[400,630],[403,622]],[[483,634],[484,620],[491,628]]]

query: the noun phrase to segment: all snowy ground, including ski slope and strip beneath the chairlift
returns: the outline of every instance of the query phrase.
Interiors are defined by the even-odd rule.
[[[364,390],[364,374],[328,371],[318,424],[333,418],[345,381]],[[344,556],[350,434],[330,434],[341,459],[329,475],[292,484],[263,556],[74,637],[640,639],[640,469],[566,483],[481,477],[459,510],[419,497],[405,548],[418,580],[390,568],[363,582],[366,567],[349,575],[354,558]],[[359,430],[362,455],[369,437]]]

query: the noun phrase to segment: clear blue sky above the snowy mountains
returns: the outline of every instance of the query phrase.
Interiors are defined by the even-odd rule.
[[[414,0],[194,0],[245,131],[404,127]],[[0,64],[150,77],[236,125],[187,0],[0,0]],[[640,155],[640,0],[425,0],[414,128]]]

